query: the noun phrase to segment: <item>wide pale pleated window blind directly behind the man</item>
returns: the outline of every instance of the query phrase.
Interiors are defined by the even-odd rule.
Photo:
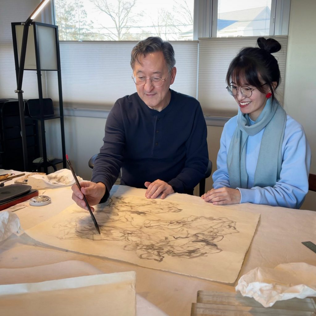
[[[136,92],[130,66],[137,42],[60,42],[64,107],[109,110]],[[196,97],[197,41],[171,42],[177,75],[172,89]],[[47,71],[47,94],[58,100],[57,73]]]

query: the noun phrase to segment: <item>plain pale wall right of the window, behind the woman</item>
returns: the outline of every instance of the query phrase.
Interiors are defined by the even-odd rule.
[[[312,149],[316,173],[315,0],[291,0],[284,108],[300,122]],[[301,209],[316,210],[316,192],[309,191]]]

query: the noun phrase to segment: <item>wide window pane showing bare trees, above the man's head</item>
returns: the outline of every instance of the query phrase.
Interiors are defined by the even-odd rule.
[[[55,0],[59,40],[193,39],[194,0]]]

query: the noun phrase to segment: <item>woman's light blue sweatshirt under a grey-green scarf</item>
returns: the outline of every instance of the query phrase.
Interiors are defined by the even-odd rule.
[[[254,124],[251,121],[251,124]],[[217,170],[213,173],[213,187],[230,187],[227,152],[237,126],[237,116],[225,125],[221,137],[221,147],[217,155]],[[287,115],[282,144],[282,168],[280,179],[273,187],[253,187],[260,143],[264,129],[254,136],[248,136],[246,147],[247,188],[238,188],[240,203],[265,204],[299,209],[308,191],[308,175],[311,164],[311,149],[303,127]]]

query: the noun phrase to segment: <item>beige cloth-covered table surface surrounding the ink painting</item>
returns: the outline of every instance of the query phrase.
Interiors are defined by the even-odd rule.
[[[5,185],[12,183],[14,183],[14,179],[7,181]],[[143,196],[143,189],[133,190],[133,194],[136,192],[137,195]],[[43,189],[39,190],[39,193],[51,197],[52,203],[36,207],[29,205],[28,202],[23,202],[7,209],[15,210],[24,230],[45,221],[73,204],[70,186]],[[175,194],[167,198],[181,201],[183,197],[181,194]],[[194,204],[205,203],[196,196],[185,195],[185,199]],[[217,207],[220,209],[222,206]],[[316,265],[316,254],[301,243],[302,241],[312,241],[316,244],[316,212],[250,203],[225,205],[224,207],[261,214],[252,244],[237,280],[258,266],[274,268],[278,264],[291,262],[306,262]],[[104,273],[136,271],[136,292],[170,316],[189,316],[191,304],[196,302],[198,290],[234,292],[234,286],[237,283],[236,281],[234,284],[221,284],[65,251],[42,245],[26,234],[19,236],[13,234],[0,242],[0,268],[28,268],[67,260],[87,262]]]

